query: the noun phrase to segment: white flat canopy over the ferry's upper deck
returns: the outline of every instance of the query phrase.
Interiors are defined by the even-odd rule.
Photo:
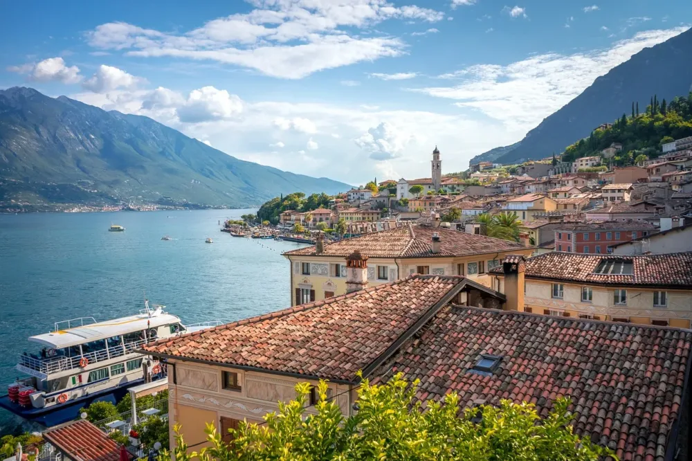
[[[152,315],[139,314],[75,328],[61,329],[57,332],[37,334],[36,336],[30,336],[29,341],[41,343],[53,349],[62,349],[173,323],[180,323],[180,318],[165,312],[152,313]]]

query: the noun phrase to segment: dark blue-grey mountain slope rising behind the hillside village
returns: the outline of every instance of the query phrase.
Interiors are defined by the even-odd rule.
[[[670,101],[692,89],[692,29],[661,44],[644,48],[607,74],[597,78],[583,93],[545,118],[527,133],[516,149],[498,163],[543,159],[589,136],[602,123],[631,114],[632,102],[646,110],[653,94]]]

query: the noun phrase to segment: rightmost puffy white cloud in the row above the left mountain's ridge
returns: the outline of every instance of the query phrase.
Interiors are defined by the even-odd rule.
[[[185,104],[177,109],[181,122],[200,123],[232,118],[243,110],[243,102],[235,94],[215,87],[190,91]]]

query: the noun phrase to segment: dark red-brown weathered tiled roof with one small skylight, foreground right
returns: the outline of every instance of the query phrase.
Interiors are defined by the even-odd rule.
[[[449,392],[467,407],[529,401],[542,417],[568,396],[575,433],[621,460],[662,461],[680,417],[691,341],[683,329],[448,305],[375,374],[420,379],[421,401]],[[498,368],[471,372],[481,354],[502,357]]]

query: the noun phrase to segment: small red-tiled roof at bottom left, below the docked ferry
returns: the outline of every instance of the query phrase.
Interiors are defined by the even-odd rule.
[[[119,461],[120,445],[88,421],[50,428],[44,439],[75,461]]]

